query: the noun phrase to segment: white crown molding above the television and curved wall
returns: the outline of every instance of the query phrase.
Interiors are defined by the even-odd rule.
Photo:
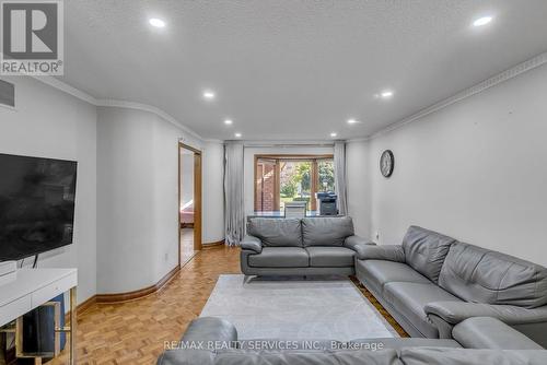
[[[201,138],[201,136],[199,136],[198,133],[193,131],[190,128],[184,126],[178,120],[176,120],[174,117],[172,117],[171,115],[168,115],[167,113],[163,111],[162,109],[160,109],[155,106],[142,104],[142,103],[133,103],[133,102],[128,102],[128,101],[118,101],[118,99],[109,99],[109,98],[97,99],[97,98],[93,97],[92,95],[90,95],[90,94],[88,94],[88,93],[85,93],[77,87],[73,87],[73,86],[67,84],[66,82],[60,81],[59,79],[56,79],[54,76],[31,76],[31,78],[33,78],[34,80],[37,80],[39,82],[43,82],[51,87],[60,90],[60,91],[62,91],[69,95],[72,95],[72,96],[74,96],[83,102],[86,102],[91,105],[97,106],[97,107],[100,107],[100,106],[118,107],[118,108],[136,109],[136,110],[152,113],[152,114],[159,116],[160,118],[171,122],[175,127],[182,129],[184,132],[186,132],[187,134],[197,139],[198,141],[202,141],[202,142],[207,141],[203,138]]]

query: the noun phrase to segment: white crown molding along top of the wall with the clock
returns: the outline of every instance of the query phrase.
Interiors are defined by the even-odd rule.
[[[494,75],[490,79],[487,79],[482,82],[479,82],[478,84],[475,84],[472,87],[463,90],[459,93],[457,93],[451,97],[447,97],[441,102],[438,102],[438,103],[435,103],[435,104],[433,104],[424,109],[421,109],[420,111],[418,111],[411,116],[408,116],[399,121],[396,121],[396,122],[381,129],[380,131],[370,134],[369,137],[365,137],[362,139],[349,140],[349,142],[370,141],[370,140],[373,140],[380,136],[389,133],[389,132],[392,132],[396,129],[399,129],[408,123],[411,123],[416,120],[422,119],[423,117],[426,117],[430,114],[433,114],[433,113],[439,111],[441,109],[444,109],[453,104],[456,104],[463,99],[466,99],[468,97],[472,97],[474,95],[482,93],[482,92],[485,92],[493,86],[499,85],[502,82],[514,79],[514,78],[523,74],[524,72],[534,70],[534,69],[536,69],[545,63],[547,63],[547,52],[543,52],[540,55],[537,55],[537,56],[535,56],[535,57],[533,57],[533,58],[531,58],[522,63],[519,63],[519,64],[516,64],[516,66],[514,66],[514,67],[512,67],[503,72],[498,73],[497,75]]]

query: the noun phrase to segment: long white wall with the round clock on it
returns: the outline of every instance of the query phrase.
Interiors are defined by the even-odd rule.
[[[546,97],[543,66],[354,148],[352,160],[370,151],[371,204],[350,196],[364,200],[370,235],[400,243],[418,224],[547,264]],[[385,149],[389,179],[377,168]]]

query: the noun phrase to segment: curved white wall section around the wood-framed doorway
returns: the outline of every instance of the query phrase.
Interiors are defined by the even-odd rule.
[[[123,293],[156,283],[178,264],[178,141],[202,150],[203,240],[223,236],[220,143],[190,140],[161,117],[98,108],[97,291]],[[205,199],[205,197],[208,199]],[[216,220],[211,223],[210,220]],[[218,221],[217,221],[218,220]],[[219,229],[219,227],[221,227]]]

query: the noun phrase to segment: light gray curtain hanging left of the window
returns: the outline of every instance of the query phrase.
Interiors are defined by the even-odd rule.
[[[245,234],[243,151],[241,142],[224,145],[224,220],[229,246],[238,246]]]

